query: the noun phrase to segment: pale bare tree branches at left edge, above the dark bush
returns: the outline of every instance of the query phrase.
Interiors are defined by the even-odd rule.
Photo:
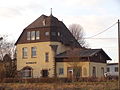
[[[10,57],[13,57],[15,53],[14,42],[8,41],[7,35],[0,35],[0,60],[3,60],[5,54],[8,54]]]

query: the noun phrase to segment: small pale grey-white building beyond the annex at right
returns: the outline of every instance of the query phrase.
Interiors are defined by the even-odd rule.
[[[111,76],[118,76],[118,63],[109,63],[107,64],[107,73]]]

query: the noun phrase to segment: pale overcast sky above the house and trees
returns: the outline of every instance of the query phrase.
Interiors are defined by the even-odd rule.
[[[17,40],[22,30],[40,15],[52,13],[68,27],[80,24],[85,36],[93,36],[120,19],[120,0],[0,0],[0,34]],[[103,48],[117,62],[117,24],[108,31],[86,39],[90,48]],[[111,38],[111,39],[97,39]]]

